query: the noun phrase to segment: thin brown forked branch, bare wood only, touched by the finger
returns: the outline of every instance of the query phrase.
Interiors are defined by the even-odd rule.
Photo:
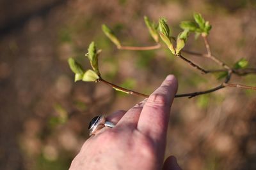
[[[195,55],[195,56],[198,56],[198,57],[209,58],[209,59],[213,60],[214,62],[216,62],[217,64],[219,64],[220,66],[224,67],[224,69],[213,69],[213,70],[208,70],[207,71],[207,70],[203,69],[202,67],[193,63],[191,60],[186,59],[180,53],[175,55],[175,56],[184,60],[185,62],[187,62],[192,67],[195,67],[195,69],[198,69],[203,74],[227,71],[228,75],[226,76],[225,81],[223,83],[221,83],[220,85],[218,85],[217,87],[214,87],[214,88],[209,89],[209,90],[199,91],[199,92],[192,92],[192,93],[186,93],[186,94],[176,94],[175,97],[192,98],[192,97],[195,97],[195,96],[200,96],[202,94],[208,94],[208,93],[211,93],[211,92],[215,92],[215,91],[223,89],[225,87],[237,87],[237,88],[241,88],[241,89],[256,90],[256,87],[234,84],[234,83],[228,83],[228,81],[230,81],[230,78],[231,78],[233,73],[237,74],[239,76],[244,76],[246,74],[256,73],[256,68],[232,69],[232,68],[228,67],[224,62],[221,62],[221,60],[216,59],[216,57],[214,57],[211,54],[211,48],[210,48],[209,41],[208,41],[207,37],[206,36],[202,36],[202,37],[204,38],[204,43],[205,43],[205,46],[206,46],[206,49],[207,49],[207,54],[191,52],[189,50],[182,50],[182,52],[189,53],[191,55]],[[157,45],[154,45],[154,46],[121,46],[118,49],[120,49],[120,50],[155,50],[155,49],[158,49],[160,47],[161,47],[161,45],[157,44]],[[101,77],[97,81],[101,81],[102,83],[105,83],[106,85],[112,87],[113,89],[125,92],[127,94],[132,94],[132,95],[141,96],[141,97],[149,97],[146,94],[141,94],[140,92],[135,92],[133,90],[125,89],[124,87],[120,87],[118,85],[110,83],[109,81],[106,81],[106,80],[102,79]]]

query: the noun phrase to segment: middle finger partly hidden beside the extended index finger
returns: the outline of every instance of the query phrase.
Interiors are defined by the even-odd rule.
[[[137,127],[138,120],[140,118],[141,110],[142,110],[146,101],[147,101],[147,99],[144,99],[140,103],[133,106],[130,110],[128,110],[125,113],[124,117],[122,117],[120,119],[117,126],[121,126],[121,127],[122,126],[129,126],[132,129],[135,129]]]

